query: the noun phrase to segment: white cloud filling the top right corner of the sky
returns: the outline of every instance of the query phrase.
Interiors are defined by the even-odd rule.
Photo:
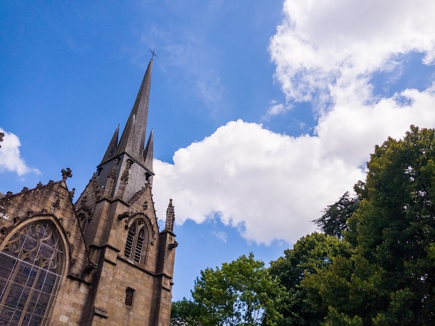
[[[391,70],[400,54],[417,51],[434,63],[434,14],[432,0],[286,0],[284,21],[270,42],[275,76],[297,101],[318,91],[335,99],[331,88],[352,85],[367,96],[367,77]]]

